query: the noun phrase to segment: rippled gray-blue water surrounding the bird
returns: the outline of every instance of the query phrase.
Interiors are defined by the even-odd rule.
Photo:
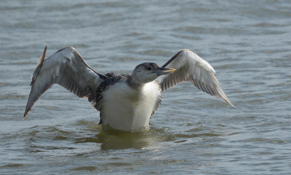
[[[1,0],[0,174],[289,174],[290,31],[289,0]],[[22,120],[45,45],[73,46],[103,74],[187,48],[235,107],[184,82],[148,130],[112,132],[54,85]]]

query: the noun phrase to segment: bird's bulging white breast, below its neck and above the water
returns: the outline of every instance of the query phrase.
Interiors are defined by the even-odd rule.
[[[111,85],[102,93],[102,124],[123,131],[142,129],[148,125],[159,95],[159,87],[154,82],[141,89],[132,89],[126,82]]]

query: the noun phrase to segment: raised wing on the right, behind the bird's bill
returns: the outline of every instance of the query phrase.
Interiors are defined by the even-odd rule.
[[[233,106],[221,89],[214,75],[213,67],[190,50],[184,49],[179,51],[162,67],[177,69],[173,73],[161,76],[162,79],[159,82],[162,91],[166,91],[181,82],[189,81],[203,92],[221,98]]]

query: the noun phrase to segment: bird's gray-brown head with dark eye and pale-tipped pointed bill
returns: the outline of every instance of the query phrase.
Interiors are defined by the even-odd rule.
[[[162,68],[156,63],[142,63],[132,71],[132,81],[135,84],[146,84],[154,81],[160,75],[174,72],[173,68]]]

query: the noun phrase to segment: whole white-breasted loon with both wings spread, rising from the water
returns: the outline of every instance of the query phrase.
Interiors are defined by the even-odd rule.
[[[46,48],[32,75],[24,118],[53,84],[61,85],[79,98],[88,98],[100,111],[100,124],[123,131],[147,126],[161,104],[162,92],[183,81],[192,82],[198,89],[232,105],[212,66],[187,49],[179,51],[162,67],[143,63],[136,66],[132,75],[102,75],[90,68],[73,47],[63,48],[44,59]],[[156,78],[161,75],[159,83]]]

